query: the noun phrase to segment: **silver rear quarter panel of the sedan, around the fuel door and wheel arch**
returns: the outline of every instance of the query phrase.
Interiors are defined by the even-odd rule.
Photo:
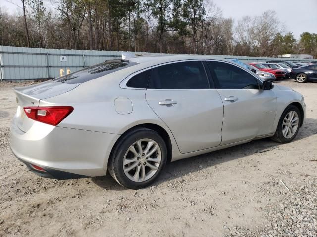
[[[150,123],[164,128],[168,133],[173,156],[180,155],[173,134],[166,124],[152,111],[145,100],[145,89],[123,89],[117,80],[95,79],[85,82],[75,89],[45,100],[40,106],[72,106],[74,111],[60,122],[58,127],[82,129],[121,135],[134,126]],[[132,112],[119,114],[115,108],[117,98],[128,98],[132,103]],[[117,137],[119,139],[120,136]],[[116,139],[116,140],[117,140]],[[105,154],[107,165],[113,144]],[[106,145],[106,144],[105,144]]]

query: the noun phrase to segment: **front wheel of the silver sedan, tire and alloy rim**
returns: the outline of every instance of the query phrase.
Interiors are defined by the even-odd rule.
[[[288,116],[293,117],[289,118]],[[289,121],[297,118],[296,123]],[[288,143],[291,142],[297,135],[298,130],[300,128],[302,118],[299,109],[295,105],[289,105],[284,112],[282,113],[276,132],[272,137],[272,140],[279,143]],[[297,124],[297,126],[289,125],[289,124]],[[286,134],[286,135],[285,135]]]

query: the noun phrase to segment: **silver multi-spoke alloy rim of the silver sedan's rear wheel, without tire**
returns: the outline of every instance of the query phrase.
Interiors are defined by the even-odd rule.
[[[161,163],[159,144],[152,139],[140,139],[133,143],[123,158],[125,175],[134,182],[149,180]]]

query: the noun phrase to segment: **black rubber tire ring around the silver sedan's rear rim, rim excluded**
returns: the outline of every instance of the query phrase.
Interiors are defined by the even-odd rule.
[[[144,182],[134,182],[130,180],[123,171],[123,159],[129,147],[140,139],[149,138],[158,143],[161,150],[161,163],[158,171],[150,179]],[[125,137],[117,144],[110,160],[110,172],[112,176],[124,187],[130,189],[140,189],[152,184],[161,173],[167,162],[167,147],[163,138],[151,129],[138,129],[132,133],[126,134]]]

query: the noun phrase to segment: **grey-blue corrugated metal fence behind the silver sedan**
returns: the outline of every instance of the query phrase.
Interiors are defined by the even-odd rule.
[[[128,53],[134,54],[134,52]],[[142,53],[137,55],[162,55]],[[170,54],[171,55],[171,54]],[[64,59],[60,57],[64,56]],[[121,58],[117,51],[90,51],[67,49],[20,48],[0,46],[0,80],[36,80],[52,79],[67,72],[74,72],[84,67],[104,62],[107,59]],[[246,56],[215,56],[225,59],[238,59],[243,62],[266,60],[312,61],[286,58],[261,58]],[[64,61],[63,61],[64,60]]]

